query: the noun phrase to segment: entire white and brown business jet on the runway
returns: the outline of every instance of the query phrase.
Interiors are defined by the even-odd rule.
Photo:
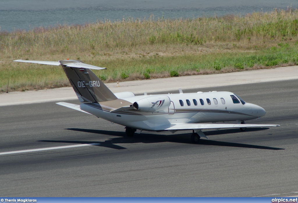
[[[170,131],[193,130],[191,141],[207,138],[203,129],[247,127],[278,127],[279,125],[245,124],[244,121],[264,116],[266,111],[243,101],[232,92],[197,92],[135,96],[132,92],[112,93],[90,70],[100,70],[79,60],[17,62],[61,65],[81,104],[58,102],[84,113],[125,126],[128,136],[136,130]],[[237,124],[226,122],[236,121]],[[221,122],[221,123],[217,123]],[[207,138],[208,139],[208,138]]]

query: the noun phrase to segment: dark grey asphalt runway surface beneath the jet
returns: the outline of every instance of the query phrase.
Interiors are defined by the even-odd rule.
[[[190,131],[126,137],[123,126],[55,102],[0,107],[0,153],[28,150],[0,155],[0,196],[297,195],[297,84],[183,90],[234,92],[267,112],[247,124],[281,125],[205,131],[200,144]]]

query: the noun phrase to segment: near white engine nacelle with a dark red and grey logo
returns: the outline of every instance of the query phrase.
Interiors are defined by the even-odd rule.
[[[148,96],[144,99],[140,99],[134,102],[133,107],[135,110],[143,112],[162,111],[167,109],[171,104],[171,100],[168,96]]]

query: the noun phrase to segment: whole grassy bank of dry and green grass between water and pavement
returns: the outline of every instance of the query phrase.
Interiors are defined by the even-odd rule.
[[[297,41],[297,10],[1,32],[0,91],[69,86],[62,68],[15,59],[83,60],[114,82],[295,65]]]

